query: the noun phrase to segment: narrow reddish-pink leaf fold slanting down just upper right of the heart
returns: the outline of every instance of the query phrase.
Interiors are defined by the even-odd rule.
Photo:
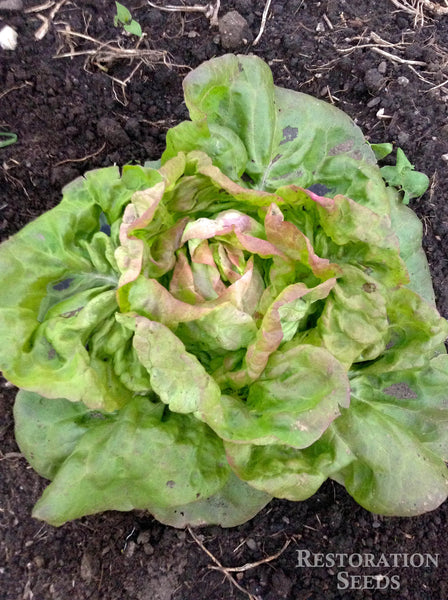
[[[340,273],[336,264],[317,256],[310,240],[293,223],[284,220],[276,204],[271,204],[268,209],[265,229],[268,241],[293,260],[307,265],[319,279],[328,279]]]

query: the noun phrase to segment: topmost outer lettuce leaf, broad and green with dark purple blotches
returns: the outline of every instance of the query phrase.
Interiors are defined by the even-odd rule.
[[[275,87],[260,59],[225,55],[203,63],[185,78],[184,91],[197,131],[189,127],[185,147],[174,128],[164,161],[179,150],[193,149],[195,135],[195,147],[208,150],[209,138],[200,125],[206,119],[210,131],[215,125],[225,127],[241,140],[250,187],[275,191],[284,185],[322,183],[333,194],[349,195],[381,214],[388,212],[385,187],[372,167],[375,157],[361,131],[331,105]],[[231,163],[220,166],[234,178]]]

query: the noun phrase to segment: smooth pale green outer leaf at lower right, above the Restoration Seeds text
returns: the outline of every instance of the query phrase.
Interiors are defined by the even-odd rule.
[[[447,374],[445,360],[445,382]],[[415,382],[406,372],[395,380],[405,389],[408,381]],[[385,383],[389,381],[386,378]],[[440,457],[439,437],[442,432],[446,456],[447,392],[445,388],[445,406],[434,405],[431,395],[425,393],[432,391],[428,383],[427,379],[421,386],[410,387],[411,398],[403,402],[400,392],[390,387],[385,395],[384,388],[381,392],[365,380],[355,382],[350,410],[334,423],[354,460],[332,477],[367,510],[384,515],[418,515],[437,508],[448,496],[448,471]]]

